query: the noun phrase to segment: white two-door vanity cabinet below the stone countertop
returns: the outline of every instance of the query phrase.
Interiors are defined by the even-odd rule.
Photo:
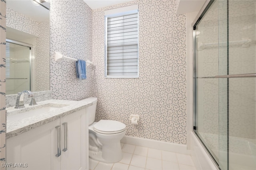
[[[88,126],[85,109],[6,140],[7,170],[86,170]]]

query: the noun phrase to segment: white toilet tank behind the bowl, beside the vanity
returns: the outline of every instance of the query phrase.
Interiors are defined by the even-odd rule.
[[[97,97],[90,97],[90,98],[84,99],[83,101],[86,101],[89,103],[92,102],[91,106],[86,107],[86,115],[87,115],[88,123],[90,125],[95,121]]]

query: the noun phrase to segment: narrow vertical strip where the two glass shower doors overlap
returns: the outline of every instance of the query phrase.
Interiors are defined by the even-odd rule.
[[[219,78],[228,75],[229,43],[228,43],[228,0],[218,0],[218,71],[214,79],[218,79],[218,123],[219,123],[219,168],[229,170],[229,79]]]

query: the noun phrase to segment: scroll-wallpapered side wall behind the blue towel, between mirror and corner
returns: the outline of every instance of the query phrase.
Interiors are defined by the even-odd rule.
[[[50,11],[50,89],[53,99],[81,100],[92,96],[93,67],[87,79],[76,78],[75,61],[54,61],[54,52],[92,60],[92,10],[82,0],[54,0]]]

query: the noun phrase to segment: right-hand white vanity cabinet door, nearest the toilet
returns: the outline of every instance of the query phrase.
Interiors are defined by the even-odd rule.
[[[88,164],[86,165],[86,134],[88,135],[88,133],[86,133],[85,111],[82,109],[60,119],[62,130],[61,170],[85,170],[88,166]],[[65,126],[67,126],[66,132]]]

